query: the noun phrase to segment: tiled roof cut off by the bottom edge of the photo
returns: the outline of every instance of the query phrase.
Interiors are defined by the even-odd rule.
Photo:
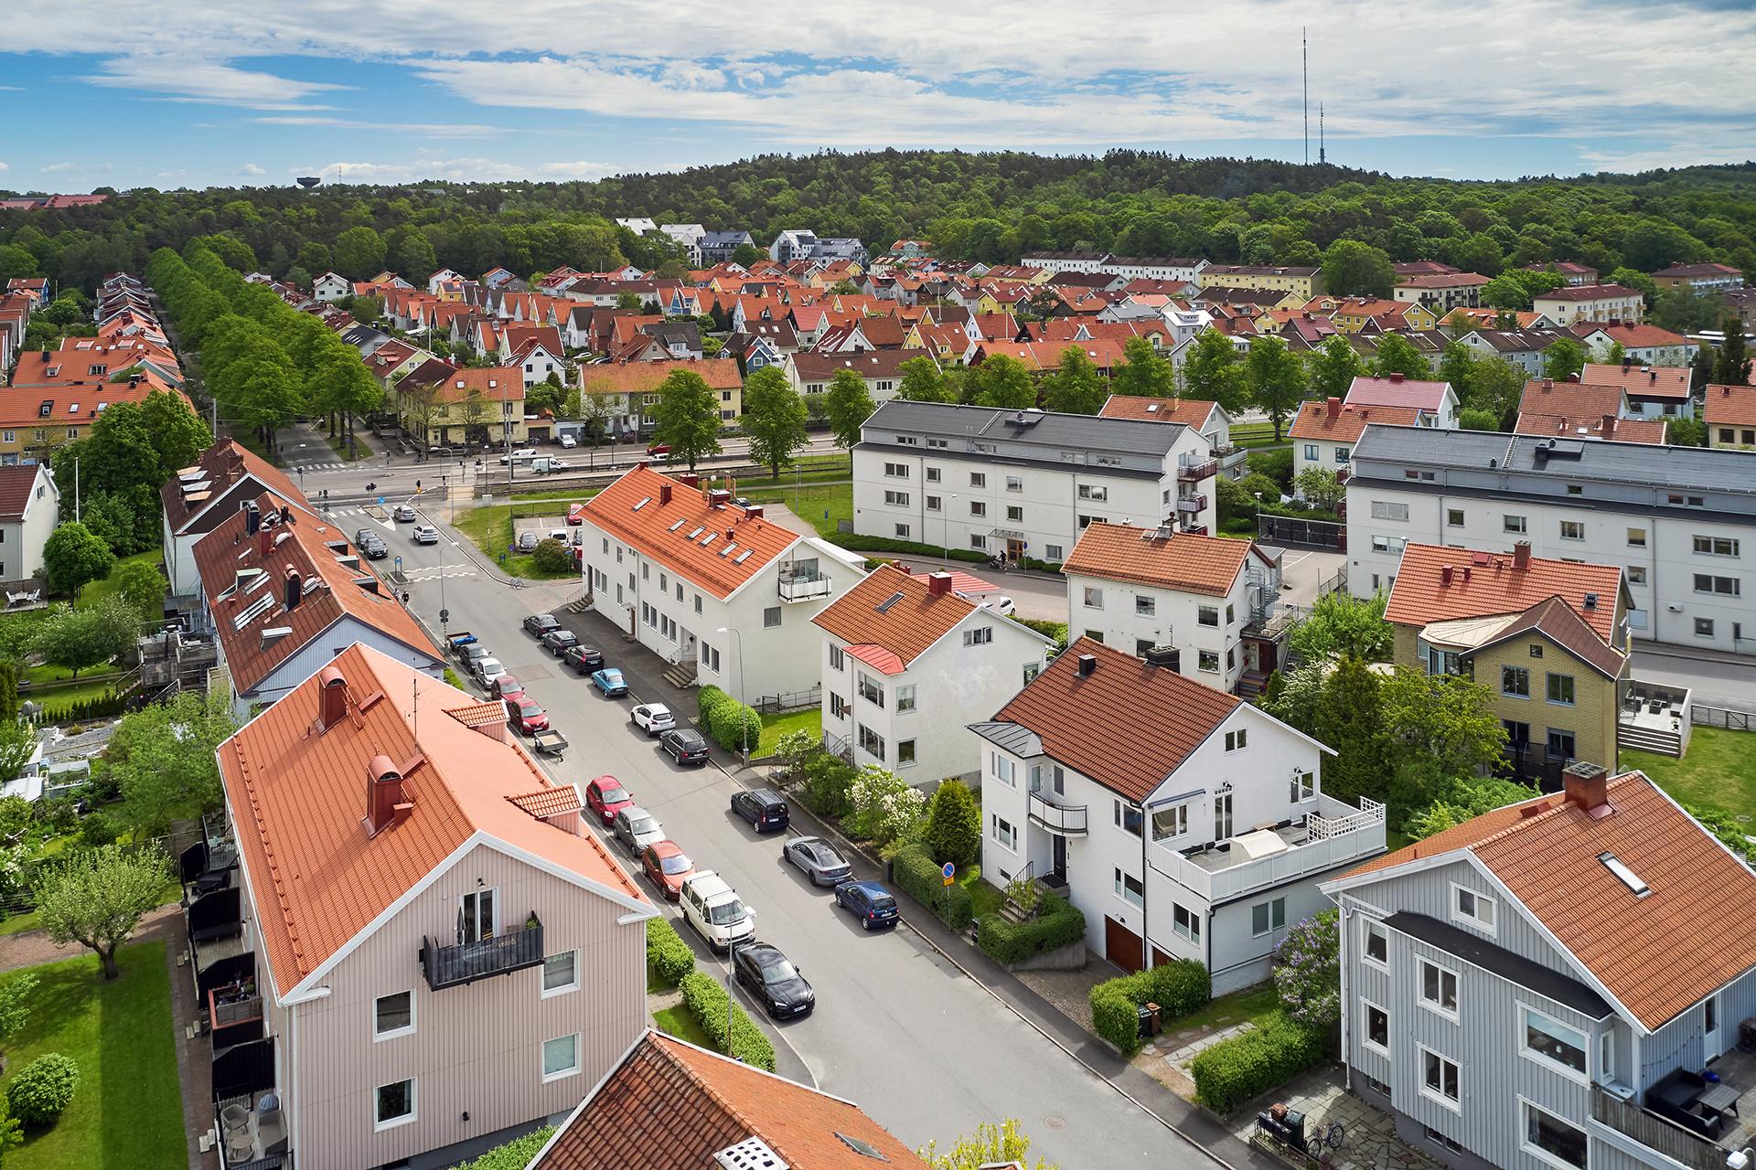
[[[855,1151],[857,1138],[883,1161]],[[711,1170],[760,1138],[790,1170],[929,1170],[853,1102],[648,1031],[579,1102],[532,1170]]]

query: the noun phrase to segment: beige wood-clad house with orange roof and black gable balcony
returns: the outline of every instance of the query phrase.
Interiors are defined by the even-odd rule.
[[[655,910],[499,705],[349,646],[218,758],[181,861],[225,1170],[450,1166],[644,1031]]]

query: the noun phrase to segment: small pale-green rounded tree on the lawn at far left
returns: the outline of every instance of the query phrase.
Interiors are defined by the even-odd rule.
[[[116,949],[160,903],[169,881],[170,865],[156,849],[102,845],[42,867],[32,893],[49,937],[95,951],[109,981],[121,975]]]

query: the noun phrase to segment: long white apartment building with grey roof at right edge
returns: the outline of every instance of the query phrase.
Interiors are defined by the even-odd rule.
[[[1359,596],[1389,588],[1408,542],[1529,542],[1535,556],[1621,565],[1635,639],[1756,653],[1742,575],[1744,540],[1756,561],[1756,451],[1371,424],[1347,521]]]

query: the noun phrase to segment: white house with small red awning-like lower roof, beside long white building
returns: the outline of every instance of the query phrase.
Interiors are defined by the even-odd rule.
[[[876,568],[815,617],[824,631],[824,737],[853,767],[911,784],[976,775],[966,730],[1034,679],[1052,642],[952,589],[952,574]]]

